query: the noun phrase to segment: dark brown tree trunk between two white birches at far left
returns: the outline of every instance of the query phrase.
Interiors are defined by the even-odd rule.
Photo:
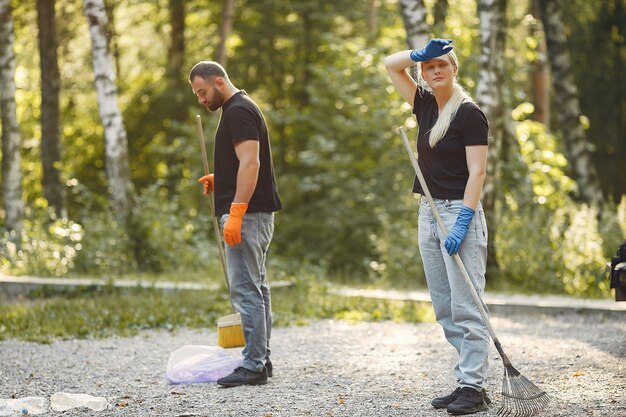
[[[65,189],[60,180],[59,91],[61,77],[57,61],[55,0],[37,0],[39,57],[41,67],[41,163],[43,194],[57,218],[67,217]]]

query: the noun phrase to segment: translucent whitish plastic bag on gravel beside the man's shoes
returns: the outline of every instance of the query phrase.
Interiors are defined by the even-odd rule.
[[[243,358],[219,346],[187,345],[170,354],[166,376],[172,384],[213,382],[229,375]]]

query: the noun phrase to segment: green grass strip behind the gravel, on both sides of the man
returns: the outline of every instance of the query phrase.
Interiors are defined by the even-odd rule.
[[[36,291],[0,304],[0,340],[49,343],[55,339],[132,336],[144,329],[215,329],[218,317],[229,314],[226,290],[172,291],[76,288],[61,293]],[[433,320],[429,304],[340,297],[329,294],[315,277],[294,286],[275,288],[272,307],[276,326],[305,325],[311,320]]]

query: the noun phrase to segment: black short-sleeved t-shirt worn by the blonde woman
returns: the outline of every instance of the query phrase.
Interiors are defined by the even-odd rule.
[[[433,198],[462,200],[469,178],[465,147],[488,144],[489,123],[485,114],[475,103],[461,104],[444,137],[431,148],[430,130],[439,110],[435,96],[421,86],[417,87],[413,113],[419,125],[418,162],[428,190]],[[413,192],[424,194],[417,177]]]

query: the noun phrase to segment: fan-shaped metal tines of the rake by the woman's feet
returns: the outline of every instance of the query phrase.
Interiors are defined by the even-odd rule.
[[[543,410],[549,401],[550,396],[520,374],[513,365],[504,366],[499,417],[531,417]]]

